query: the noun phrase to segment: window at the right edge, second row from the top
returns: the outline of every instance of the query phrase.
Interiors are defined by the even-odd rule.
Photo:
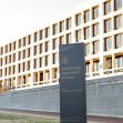
[[[114,22],[114,24],[115,24],[115,30],[116,30],[116,29],[120,29],[120,28],[123,28],[123,17],[122,17],[122,14],[115,17],[114,21],[115,21],[115,22]]]

